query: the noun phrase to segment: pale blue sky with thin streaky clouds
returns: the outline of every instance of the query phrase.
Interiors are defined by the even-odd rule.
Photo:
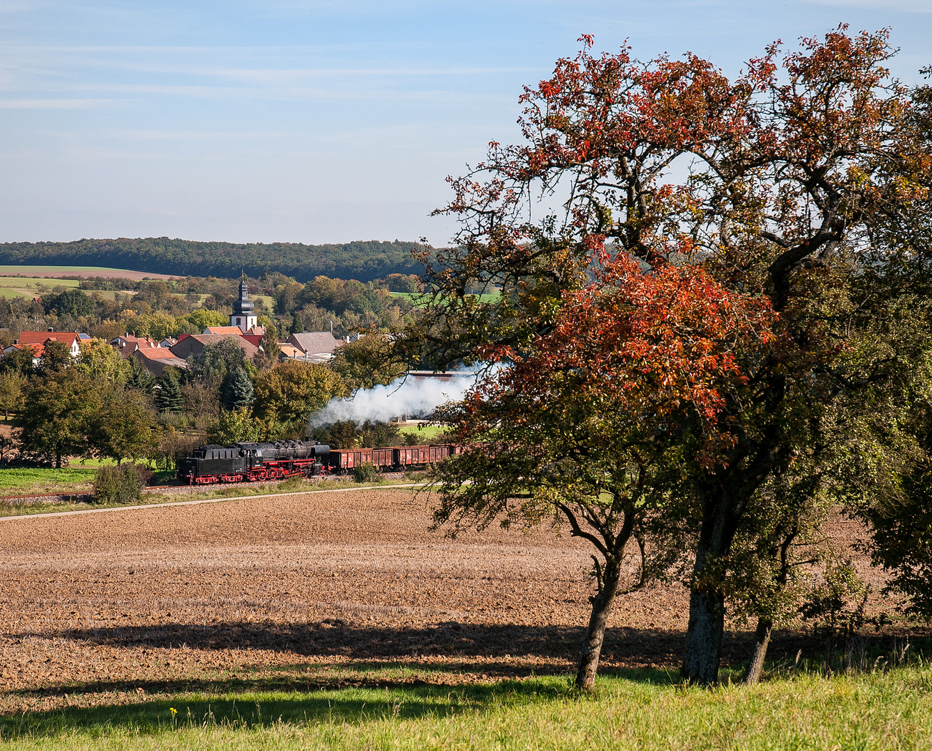
[[[446,175],[580,34],[736,75],[841,21],[932,64],[932,0],[0,0],[0,241],[444,245]]]

